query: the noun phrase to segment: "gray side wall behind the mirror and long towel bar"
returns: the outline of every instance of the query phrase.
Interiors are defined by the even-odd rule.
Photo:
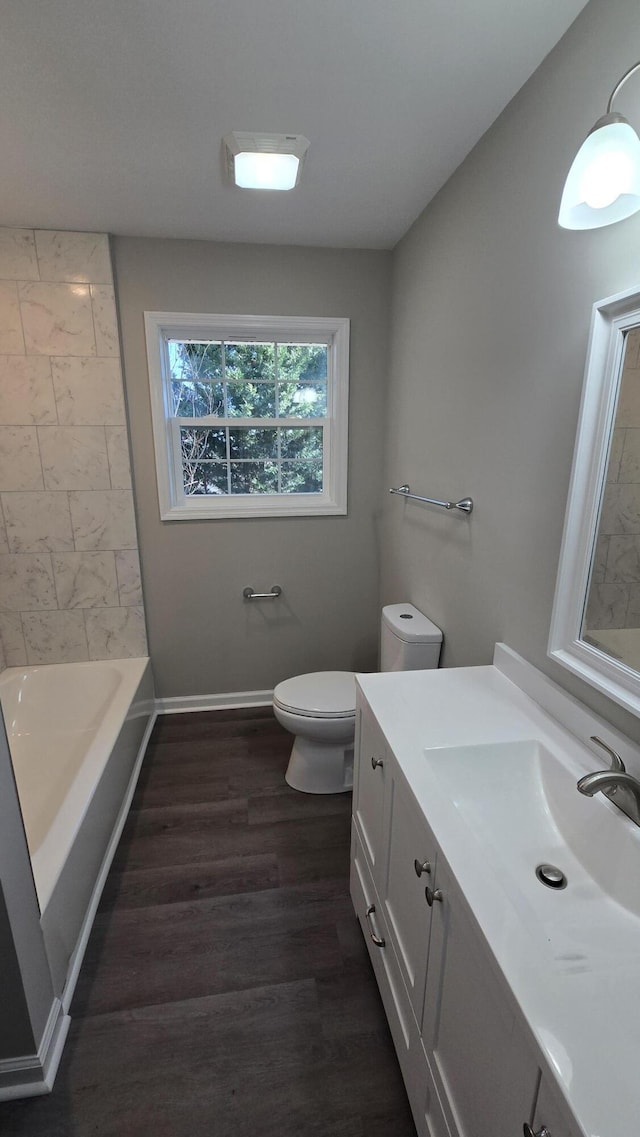
[[[546,652],[591,306],[640,285],[640,216],[587,233],[556,218],[638,25],[637,0],[592,0],[396,249],[387,475],[476,511],[388,499],[380,541],[383,601],[444,629],[446,665],[505,640],[634,737]],[[616,109],[640,123],[639,78]]]

